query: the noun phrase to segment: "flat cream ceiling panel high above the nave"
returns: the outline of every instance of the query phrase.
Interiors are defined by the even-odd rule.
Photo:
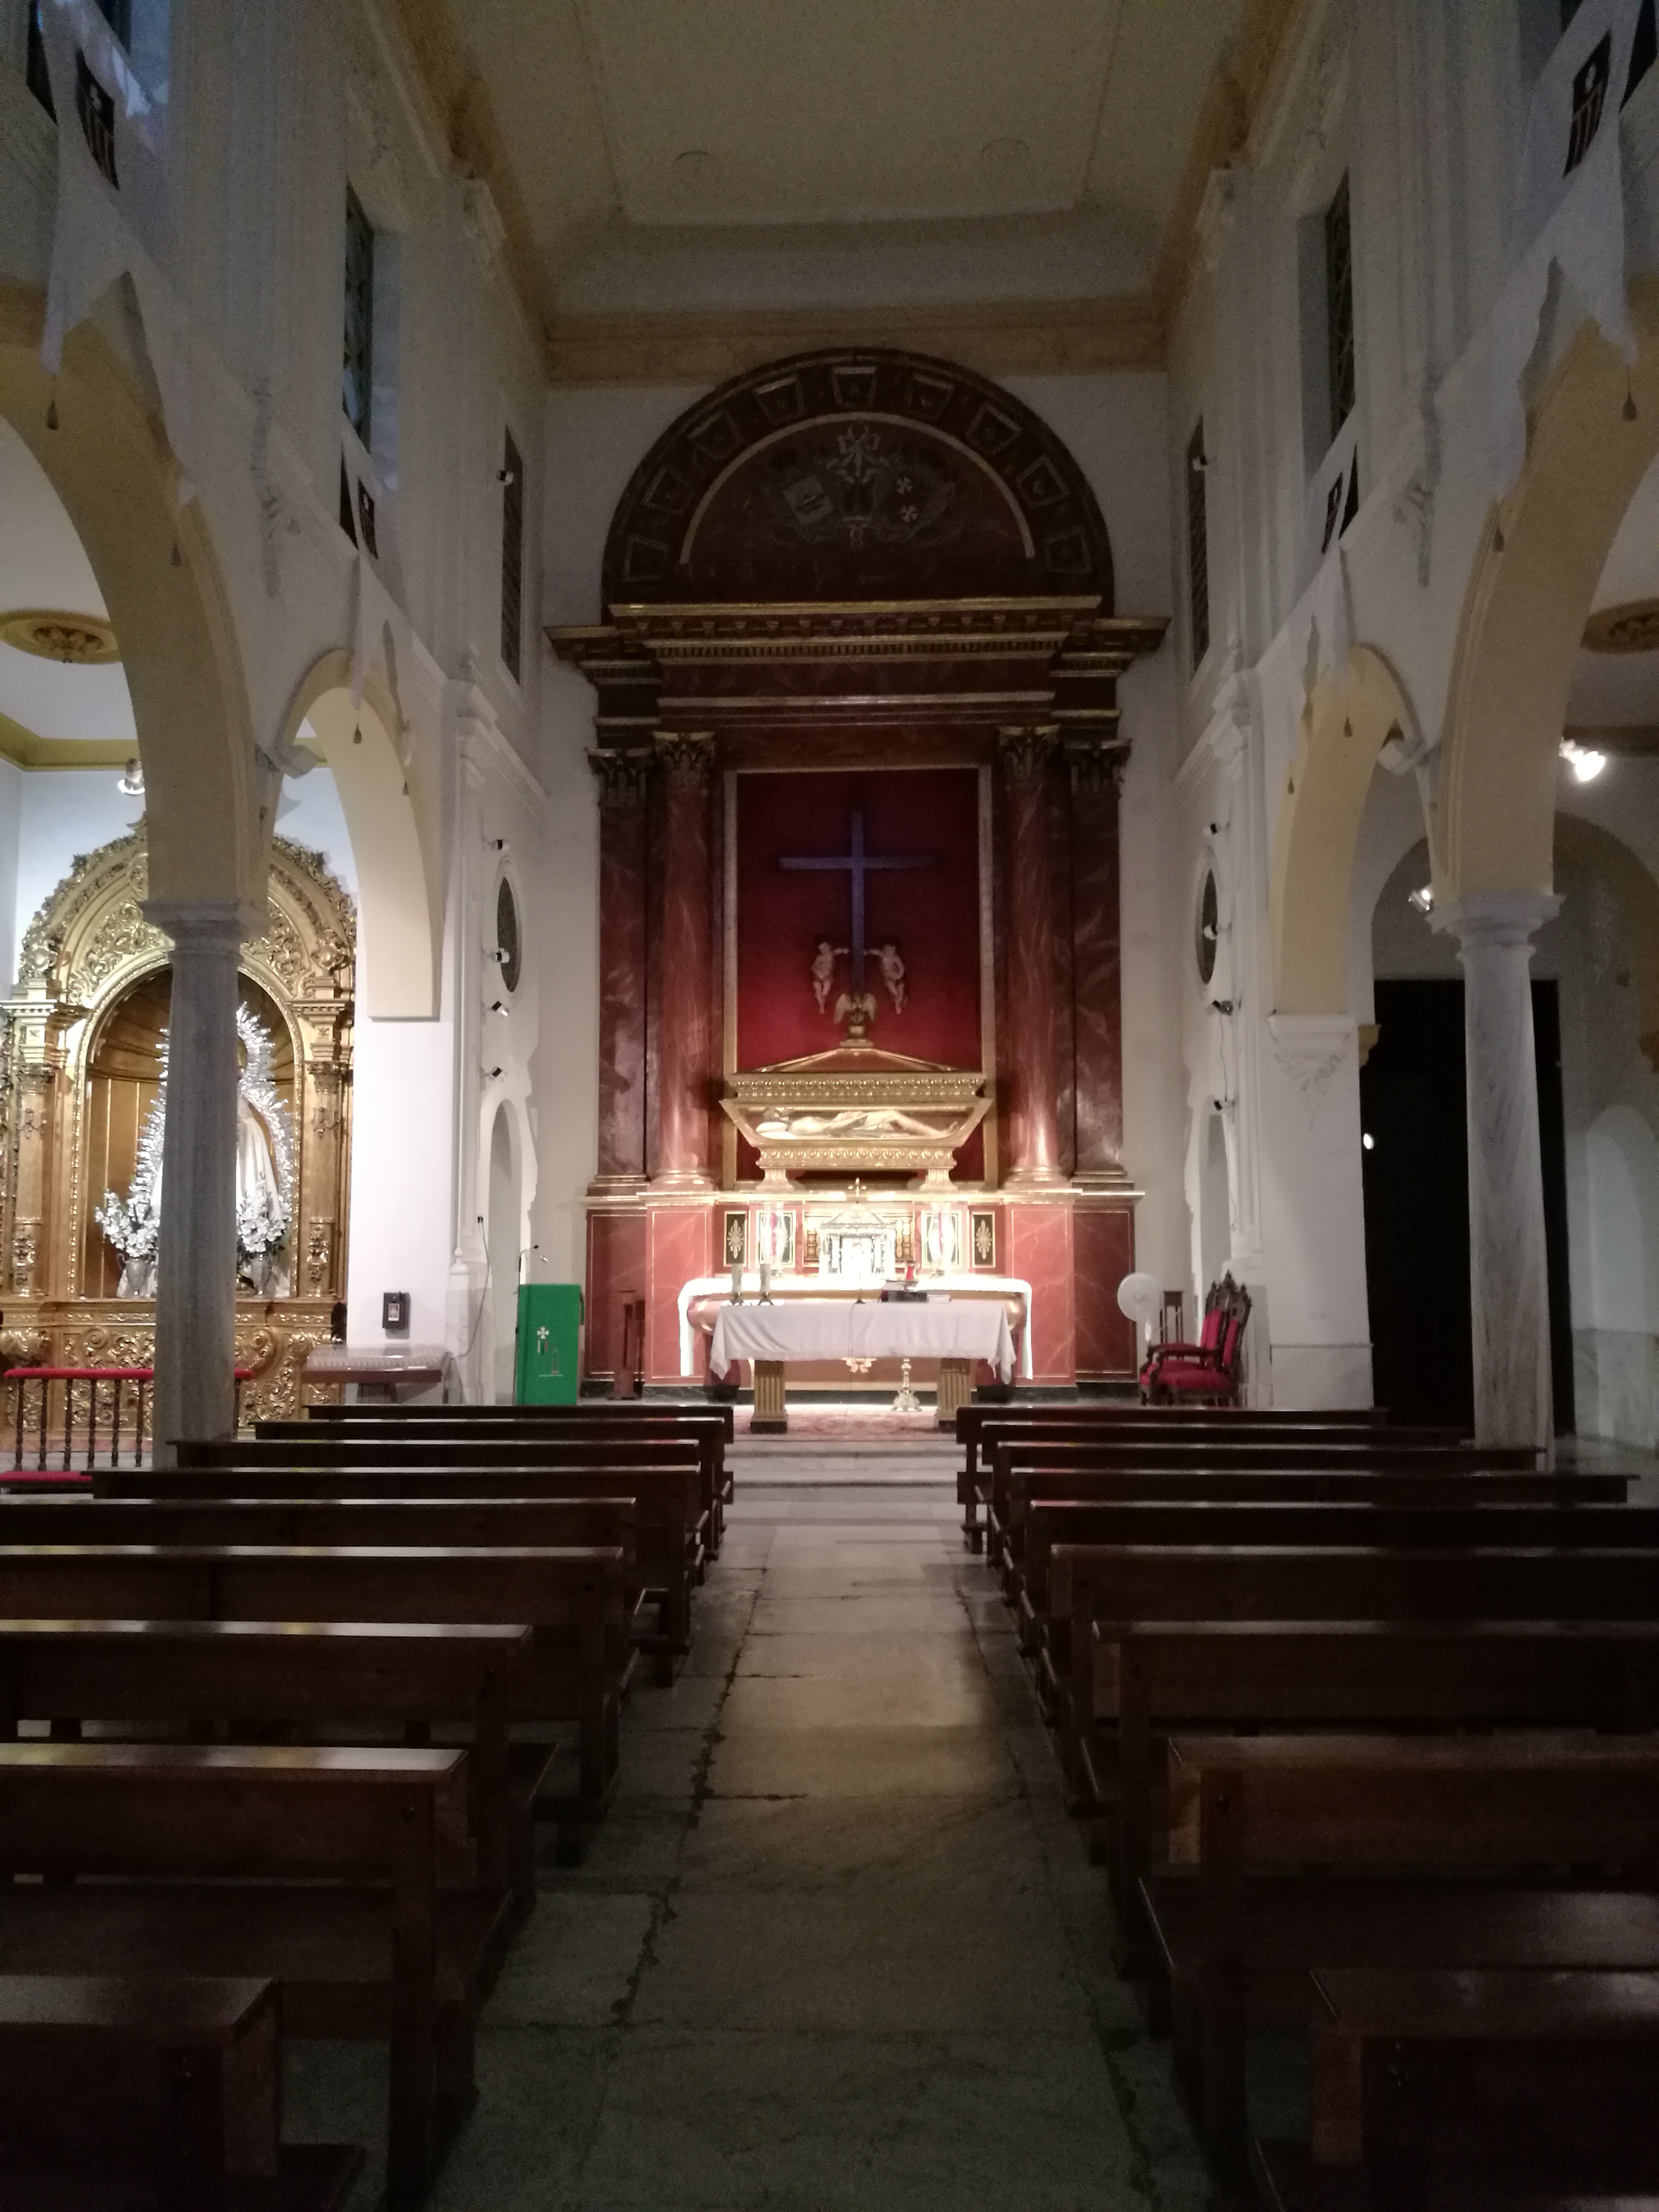
[[[407,7],[407,0],[405,0]],[[1146,299],[1287,0],[440,0],[549,330]]]

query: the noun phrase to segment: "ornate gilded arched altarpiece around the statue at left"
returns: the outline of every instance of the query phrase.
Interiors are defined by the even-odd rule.
[[[104,1071],[166,989],[168,940],[144,920],[146,891],[139,823],[75,860],[24,931],[0,1042],[7,1365],[144,1367],[155,1354],[155,1301],[104,1294],[115,1270],[95,1223],[119,1152],[108,1146]],[[272,1060],[294,1135],[292,1294],[237,1301],[237,1365],[250,1369],[243,1418],[332,1396],[301,1376],[345,1296],[349,1219],[356,911],[323,856],[288,838],[272,845],[268,905],[270,927],[241,949],[241,978],[243,998],[276,1031]]]

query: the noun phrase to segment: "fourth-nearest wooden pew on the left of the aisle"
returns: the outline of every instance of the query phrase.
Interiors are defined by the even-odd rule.
[[[580,1725],[580,1794],[538,1801],[564,1851],[615,1783],[630,1668],[615,1548],[7,1544],[0,1617],[524,1624],[531,1672],[509,1721]]]

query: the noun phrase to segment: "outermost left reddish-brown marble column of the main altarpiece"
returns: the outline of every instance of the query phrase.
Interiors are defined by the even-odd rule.
[[[648,752],[591,752],[599,783],[599,1190],[646,1179]]]

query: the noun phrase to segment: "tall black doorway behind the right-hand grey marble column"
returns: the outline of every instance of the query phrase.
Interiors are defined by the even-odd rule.
[[[1365,1287],[1376,1402],[1398,1420],[1473,1420],[1469,1321],[1469,1135],[1462,982],[1378,982],[1378,1040],[1360,1068]],[[1566,1279],[1562,1018],[1533,984],[1537,1133],[1551,1292],[1555,1429],[1573,1429]]]

